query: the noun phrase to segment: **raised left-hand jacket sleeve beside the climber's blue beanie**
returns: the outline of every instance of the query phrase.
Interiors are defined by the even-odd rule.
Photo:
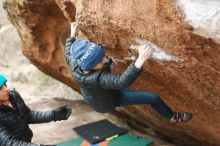
[[[71,45],[74,41],[75,41],[75,38],[73,38],[73,37],[67,38],[67,40],[66,40],[65,59],[66,59],[67,64],[69,64],[69,65],[70,65],[71,61],[73,60],[73,58],[70,56],[70,48],[71,48]]]

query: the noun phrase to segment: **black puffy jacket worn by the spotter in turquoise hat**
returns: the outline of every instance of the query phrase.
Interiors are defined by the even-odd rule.
[[[53,121],[53,111],[32,111],[15,90],[9,92],[12,107],[0,105],[0,146],[38,146],[32,144],[28,124]]]

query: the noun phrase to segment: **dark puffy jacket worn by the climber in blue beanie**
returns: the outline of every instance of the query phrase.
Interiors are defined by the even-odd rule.
[[[142,69],[130,64],[122,74],[111,73],[111,59],[102,70],[84,74],[77,61],[70,56],[71,44],[74,38],[66,40],[65,57],[73,78],[79,83],[81,94],[85,101],[97,112],[110,112],[119,105],[119,91],[128,88],[139,76]]]

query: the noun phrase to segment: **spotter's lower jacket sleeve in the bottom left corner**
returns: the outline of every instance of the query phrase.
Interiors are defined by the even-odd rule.
[[[0,124],[0,145],[1,146],[39,146],[37,144],[28,143],[15,139],[8,129]]]

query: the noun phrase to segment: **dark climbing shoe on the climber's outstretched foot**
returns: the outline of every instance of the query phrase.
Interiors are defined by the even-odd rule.
[[[188,122],[192,119],[192,113],[190,112],[174,112],[173,117],[170,119],[171,123]]]

